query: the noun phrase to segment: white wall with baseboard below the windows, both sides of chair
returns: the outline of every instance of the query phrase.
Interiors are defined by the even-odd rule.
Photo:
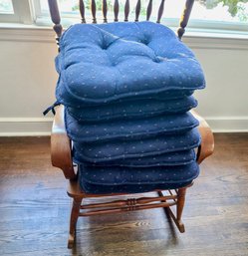
[[[248,131],[248,39],[185,37],[204,69],[197,111],[215,131]],[[57,47],[48,29],[0,29],[0,135],[48,134]]]

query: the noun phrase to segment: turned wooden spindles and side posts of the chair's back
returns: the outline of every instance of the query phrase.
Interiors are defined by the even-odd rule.
[[[161,0],[160,1],[160,5],[158,7],[158,12],[157,12],[157,23],[161,22],[161,18],[163,15],[163,11],[164,11],[164,3],[165,0]],[[180,18],[180,22],[179,22],[179,28],[177,30],[177,35],[178,38],[181,39],[184,32],[185,32],[185,27],[187,26],[188,20],[189,20],[189,16],[191,14],[191,10],[193,7],[193,3],[194,0],[185,0],[185,6],[183,9],[183,13],[181,15]],[[61,17],[60,17],[60,12],[59,12],[59,7],[58,7],[58,3],[57,0],[48,0],[48,4],[49,4],[49,10],[50,10],[50,14],[51,14],[51,18],[52,21],[54,23],[54,31],[56,32],[56,41],[57,44],[59,45],[59,40],[60,37],[62,35],[62,31],[63,31],[63,27],[61,25]],[[148,5],[146,8],[146,20],[148,21],[151,17],[151,13],[152,13],[152,4],[153,1],[149,0],[148,1]],[[108,1],[107,0],[103,0],[102,1],[102,5],[103,5],[103,17],[104,17],[104,22],[107,23],[108,22]],[[80,14],[81,14],[81,21],[82,23],[86,23],[86,6],[85,6],[85,2],[84,0],[79,0],[79,10],[80,10]],[[119,11],[120,11],[120,3],[119,0],[115,0],[114,1],[114,16],[115,22],[119,21]],[[135,5],[135,22],[138,22],[139,19],[139,15],[140,15],[140,11],[141,11],[141,0],[137,0],[136,1],[136,5]],[[125,0],[124,3],[124,21],[127,22],[128,21],[128,16],[129,16],[129,12],[130,12],[130,2],[129,0]],[[93,23],[97,23],[97,4],[96,4],[96,0],[91,0],[91,13],[92,13],[92,18],[93,18]]]

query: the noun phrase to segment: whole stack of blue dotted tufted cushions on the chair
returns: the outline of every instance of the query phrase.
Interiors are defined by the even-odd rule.
[[[84,191],[172,189],[197,177],[189,110],[205,82],[174,32],[152,22],[77,24],[60,50],[56,96]]]

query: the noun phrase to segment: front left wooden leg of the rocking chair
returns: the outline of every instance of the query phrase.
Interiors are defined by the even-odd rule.
[[[68,248],[73,248],[75,243],[76,236],[76,225],[79,218],[80,206],[82,203],[82,197],[74,197],[73,206],[71,211],[71,219],[70,219],[70,232],[68,238]]]

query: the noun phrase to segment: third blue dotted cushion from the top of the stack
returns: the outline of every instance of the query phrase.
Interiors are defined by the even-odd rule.
[[[68,135],[77,142],[141,139],[159,134],[181,133],[199,125],[199,122],[190,113],[96,124],[79,122],[65,112],[65,121]]]

